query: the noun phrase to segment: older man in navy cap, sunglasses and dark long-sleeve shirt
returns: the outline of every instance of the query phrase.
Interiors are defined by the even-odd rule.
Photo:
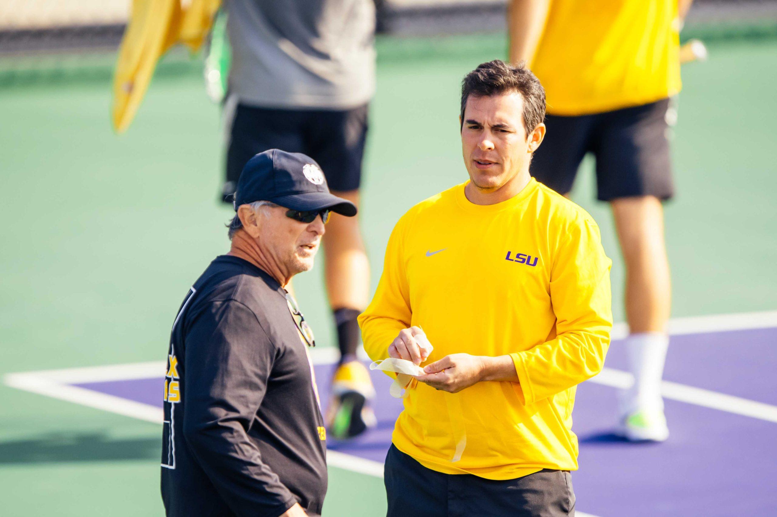
[[[190,288],[172,324],[165,380],[162,499],[167,515],[319,515],[326,431],[308,346],[284,287],[313,266],[329,193],[305,154],[273,149],[243,168],[232,248]]]

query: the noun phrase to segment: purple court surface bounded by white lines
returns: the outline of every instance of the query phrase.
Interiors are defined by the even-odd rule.
[[[618,345],[612,343],[606,366],[625,370]],[[672,338],[664,380],[777,405],[775,366],[777,328],[679,335]],[[315,367],[322,401],[332,370]],[[377,429],[350,442],[330,442],[329,448],[382,463],[402,401],[389,396],[387,376],[372,373]],[[162,405],[160,378],[77,386]],[[595,382],[580,385],[573,412],[580,440],[573,484],[580,511],[601,517],[777,515],[777,422],[671,399],[666,414],[667,442],[623,442],[613,434],[616,390]]]

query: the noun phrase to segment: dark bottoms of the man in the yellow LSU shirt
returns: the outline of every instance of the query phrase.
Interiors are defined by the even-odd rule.
[[[383,475],[387,517],[559,517],[575,515],[572,477],[543,469],[507,481],[441,474],[391,446]]]

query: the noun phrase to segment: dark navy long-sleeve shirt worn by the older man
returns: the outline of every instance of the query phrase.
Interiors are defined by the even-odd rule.
[[[162,500],[170,517],[310,515],[326,494],[326,434],[284,289],[222,255],[172,326]]]

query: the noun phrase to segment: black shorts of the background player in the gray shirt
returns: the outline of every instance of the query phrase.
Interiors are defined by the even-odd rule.
[[[274,109],[238,104],[225,107],[228,124],[225,201],[232,203],[242,168],[267,149],[304,153],[321,166],[329,189],[356,190],[367,139],[368,105],[354,109]]]

